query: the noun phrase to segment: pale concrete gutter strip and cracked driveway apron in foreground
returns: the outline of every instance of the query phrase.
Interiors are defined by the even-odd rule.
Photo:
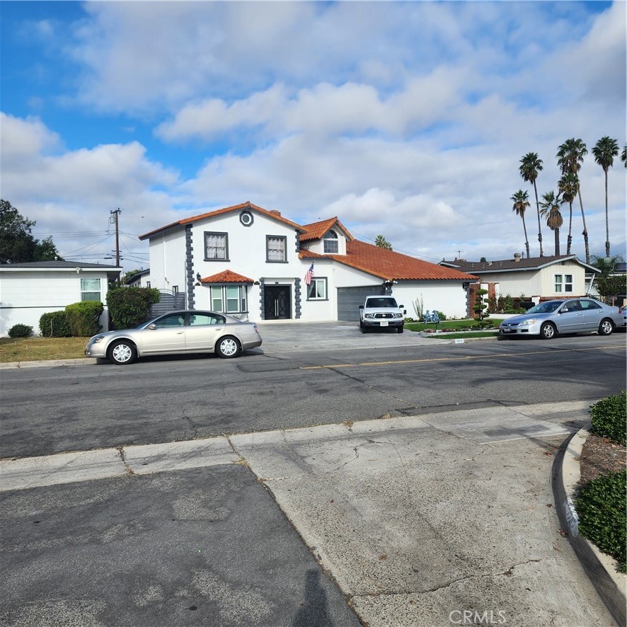
[[[364,624],[472,615],[606,626],[551,489],[574,430],[563,422],[587,409],[542,403],[5,460],[1,488],[245,464]]]

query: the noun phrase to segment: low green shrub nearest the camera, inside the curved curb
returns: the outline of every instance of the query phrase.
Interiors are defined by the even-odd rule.
[[[627,471],[604,475],[585,485],[575,501],[580,534],[616,558],[621,573],[627,565],[626,488]]]

